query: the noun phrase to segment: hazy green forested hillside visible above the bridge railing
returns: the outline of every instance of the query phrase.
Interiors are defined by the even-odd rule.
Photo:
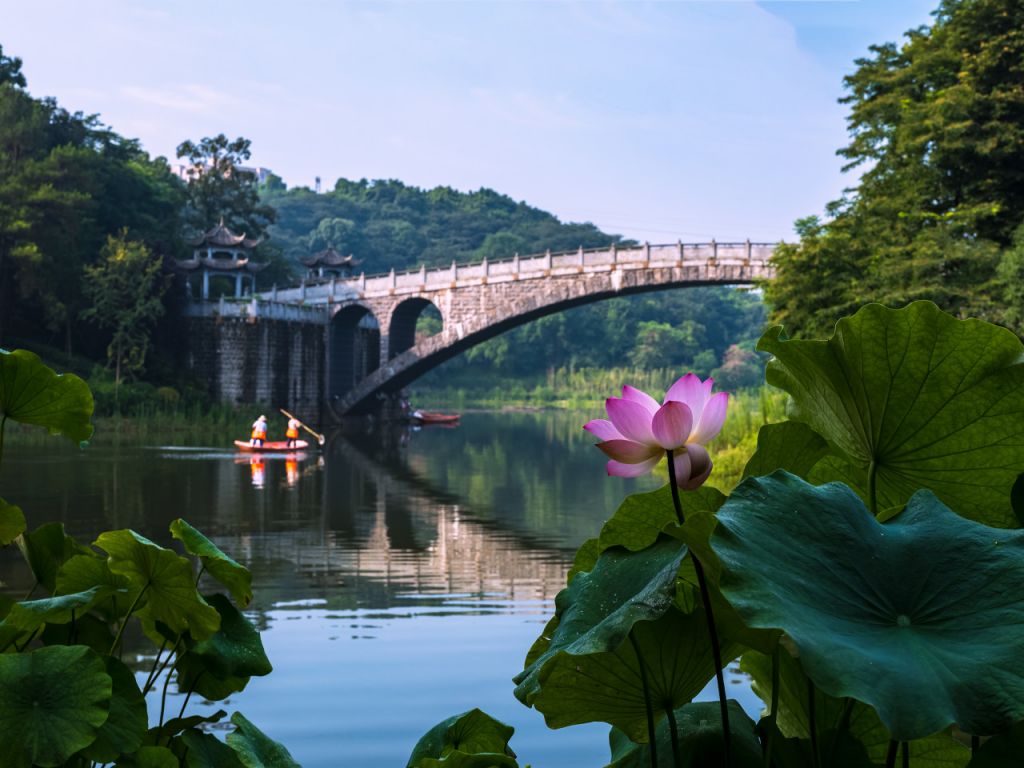
[[[285,189],[271,178],[263,200],[278,212],[270,236],[286,258],[333,247],[353,254],[367,274],[624,242],[590,223],[563,223],[492,189],[461,193],[394,179],[342,178],[317,195],[306,187]]]

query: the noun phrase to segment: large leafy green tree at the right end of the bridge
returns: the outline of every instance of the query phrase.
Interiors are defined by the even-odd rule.
[[[775,321],[814,335],[867,300],[927,298],[1024,334],[1022,30],[1017,0],[943,0],[857,61],[840,155],[862,175],[776,252]]]

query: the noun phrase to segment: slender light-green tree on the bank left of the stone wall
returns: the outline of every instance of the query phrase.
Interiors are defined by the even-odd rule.
[[[106,239],[97,264],[85,267],[85,294],[91,306],[82,318],[110,331],[106,356],[114,366],[115,387],[122,375],[141,373],[153,326],[164,313],[163,259],[127,230]],[[115,390],[116,391],[116,390]]]

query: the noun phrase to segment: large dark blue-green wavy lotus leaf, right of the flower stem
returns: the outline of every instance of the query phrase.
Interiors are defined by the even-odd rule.
[[[749,478],[718,515],[721,588],[799,649],[815,685],[878,710],[897,740],[1024,717],[1024,530],[915,494],[888,523],[846,485]],[[869,564],[867,567],[865,564]]]

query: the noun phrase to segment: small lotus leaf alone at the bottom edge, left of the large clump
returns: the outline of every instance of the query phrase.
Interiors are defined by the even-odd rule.
[[[407,768],[516,768],[509,739],[515,729],[485,712],[470,710],[423,734]]]

